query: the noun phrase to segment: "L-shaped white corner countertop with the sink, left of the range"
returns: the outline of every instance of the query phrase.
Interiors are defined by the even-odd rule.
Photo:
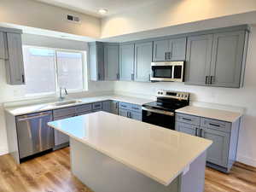
[[[80,102],[69,104],[69,105],[63,105],[63,106],[55,106],[54,102],[45,102],[45,103],[39,103],[39,104],[27,104],[27,105],[20,105],[20,106],[14,106],[14,107],[7,107],[5,110],[9,113],[11,113],[14,116],[23,115],[27,113],[38,113],[42,111],[47,110],[53,110],[57,108],[68,108],[93,102],[103,102],[108,100],[114,100],[118,102],[129,102],[132,104],[137,105],[143,105],[147,102],[154,102],[154,100],[150,99],[143,99],[143,98],[137,98],[132,96],[93,96],[93,97],[83,97],[83,98],[76,98],[76,99],[68,99],[69,100],[79,100]],[[63,101],[65,102],[65,101]]]

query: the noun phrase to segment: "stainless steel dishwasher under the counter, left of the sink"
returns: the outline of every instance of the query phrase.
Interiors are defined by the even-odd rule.
[[[16,118],[20,159],[54,147],[54,131],[47,125],[51,120],[51,111]]]

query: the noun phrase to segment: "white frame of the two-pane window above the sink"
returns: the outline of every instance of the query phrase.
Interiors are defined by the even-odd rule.
[[[34,48],[34,49],[51,49],[54,50],[54,68],[55,68],[55,91],[49,93],[35,93],[27,94],[25,91],[26,98],[40,98],[40,97],[49,97],[57,96],[60,93],[60,87],[58,82],[58,63],[57,63],[57,52],[69,52],[69,53],[79,53],[82,55],[82,78],[83,78],[83,88],[78,90],[67,90],[68,93],[82,93],[88,91],[88,64],[87,64],[87,51],[86,50],[77,50],[77,49],[62,49],[62,48],[50,48],[34,45],[22,45],[22,49],[25,48]],[[26,82],[25,82],[26,83]],[[26,84],[25,84],[26,86]]]

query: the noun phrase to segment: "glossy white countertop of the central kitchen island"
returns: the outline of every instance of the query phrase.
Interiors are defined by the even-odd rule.
[[[56,120],[49,126],[165,185],[212,144],[106,112]]]

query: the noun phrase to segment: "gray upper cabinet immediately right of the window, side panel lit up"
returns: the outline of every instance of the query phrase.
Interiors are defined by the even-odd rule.
[[[90,80],[104,80],[104,47],[102,42],[89,44]]]

